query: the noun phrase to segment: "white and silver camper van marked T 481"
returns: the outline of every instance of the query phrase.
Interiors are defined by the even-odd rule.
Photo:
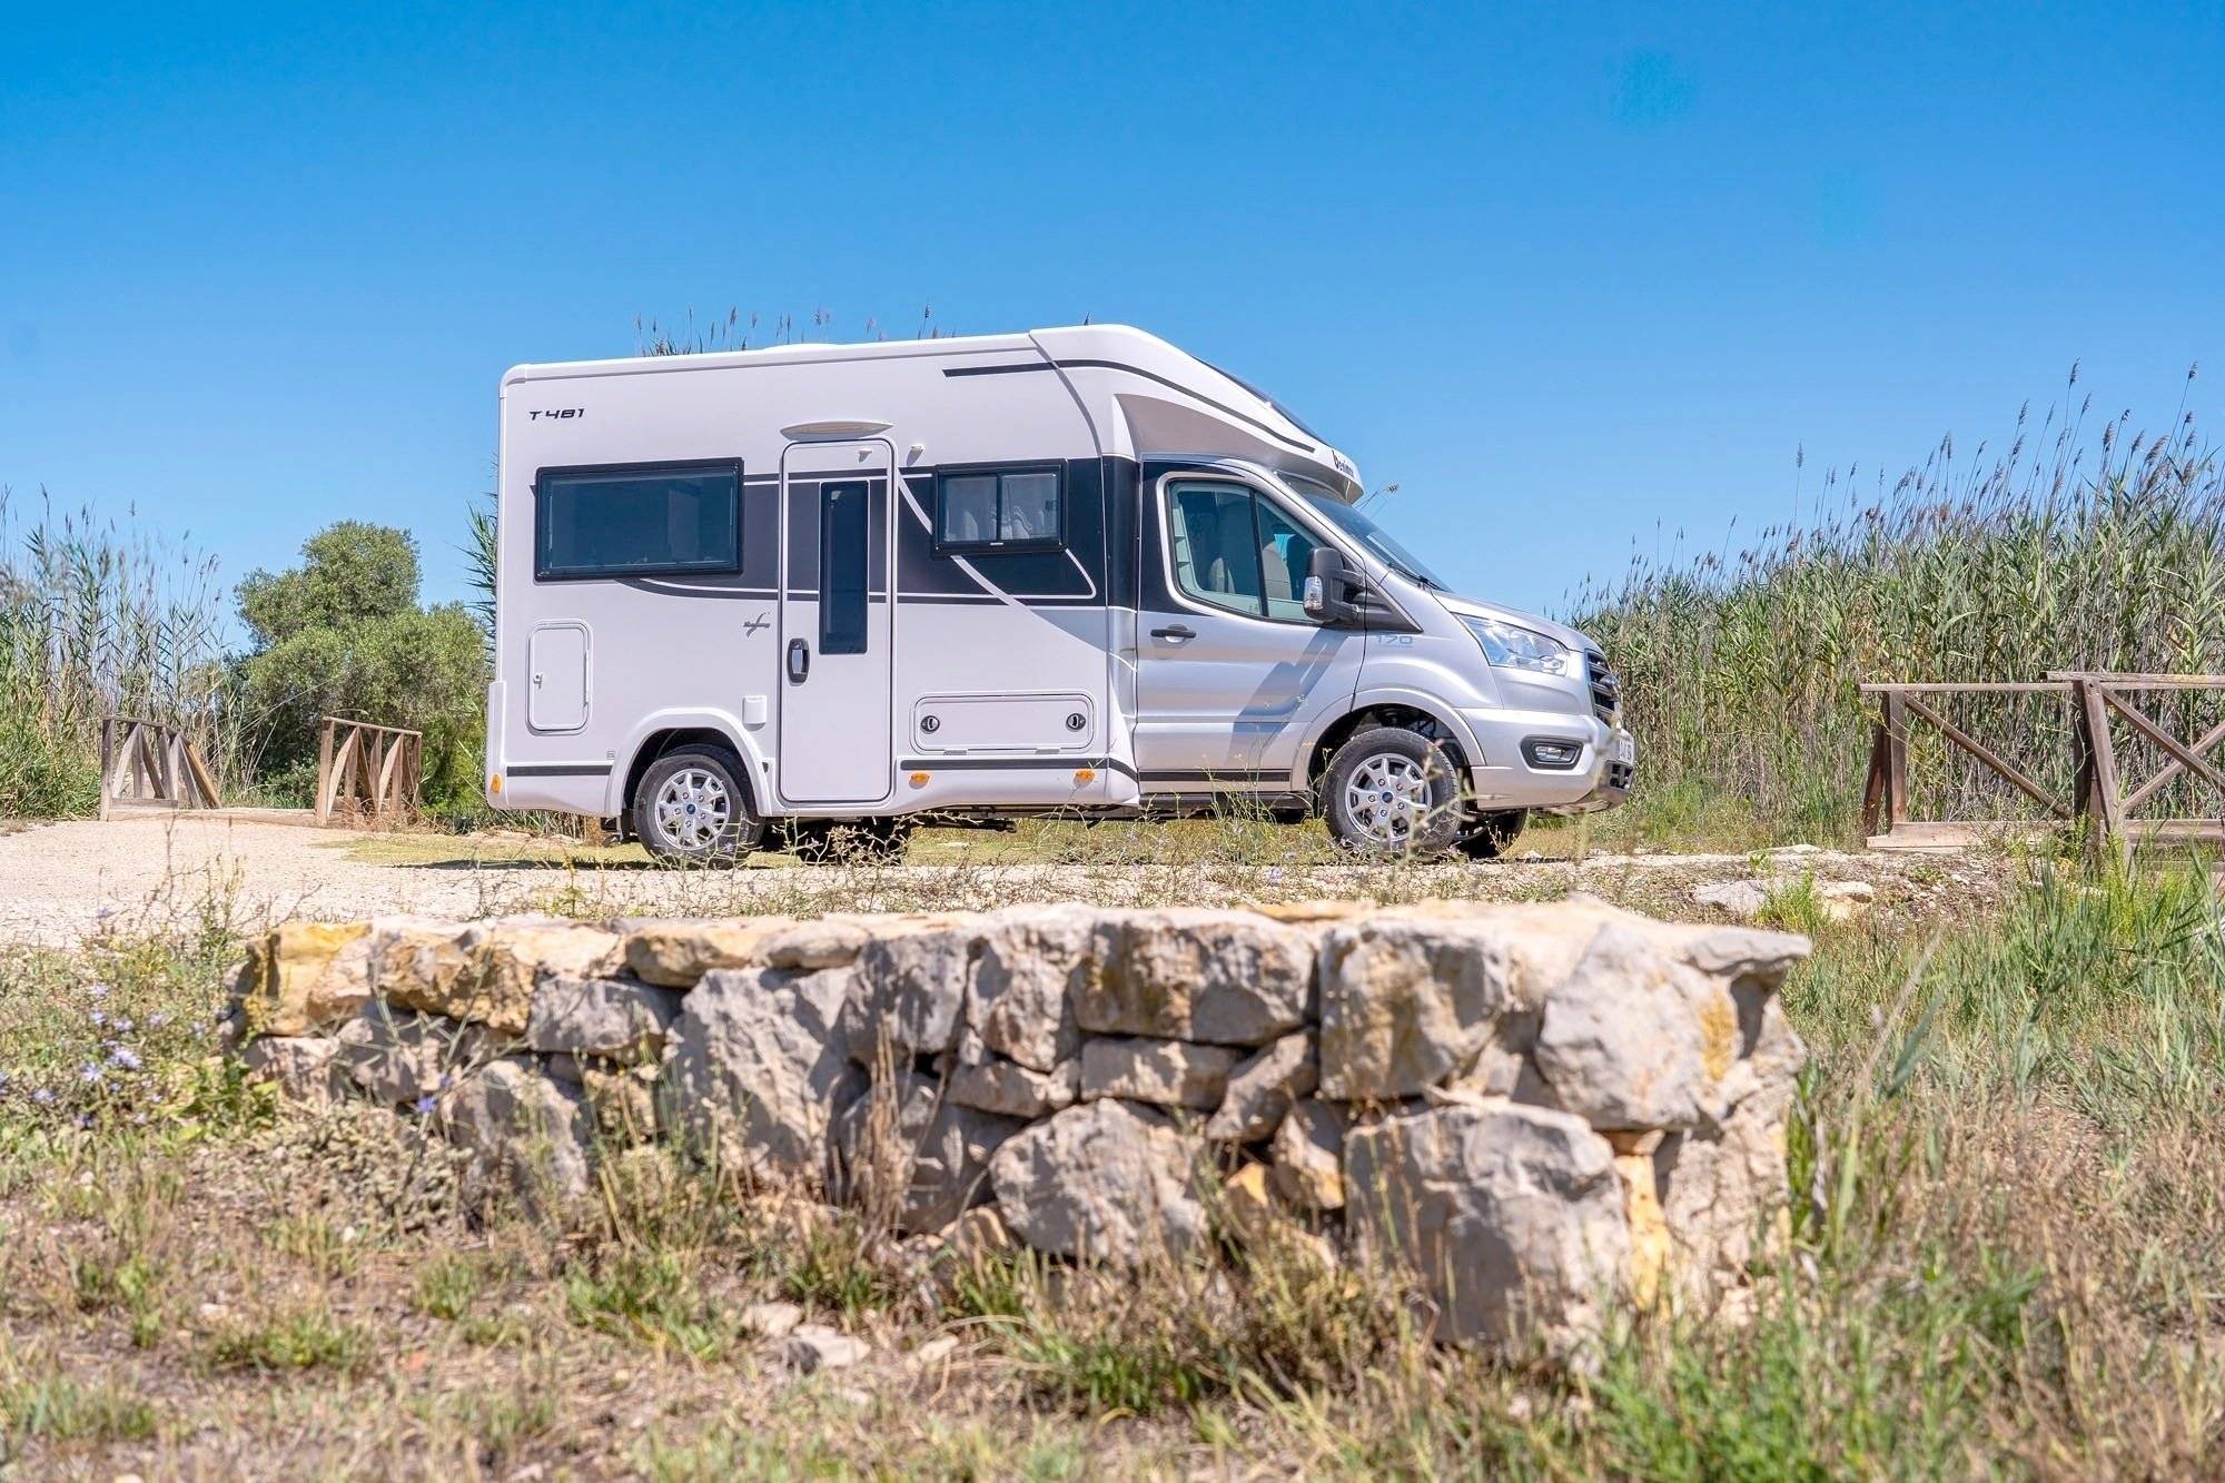
[[[1600,648],[1453,595],[1362,494],[1117,325],[518,365],[487,802],[705,862],[1219,808],[1486,857],[1620,802]]]

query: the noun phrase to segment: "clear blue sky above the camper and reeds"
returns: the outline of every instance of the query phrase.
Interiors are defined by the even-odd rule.
[[[2225,376],[2225,7],[0,0],[0,483],[434,595],[503,367],[730,305],[1155,330],[1558,606],[1793,450]],[[2192,405],[2216,405],[2216,379]]]

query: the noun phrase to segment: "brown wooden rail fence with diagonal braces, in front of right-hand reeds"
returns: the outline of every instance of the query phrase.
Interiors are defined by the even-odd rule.
[[[1951,746],[1976,757],[1989,773],[2011,784],[2045,811],[2038,824],[2083,824],[2096,855],[2116,851],[2132,857],[2134,844],[2212,842],[2225,844],[2225,770],[2207,762],[2207,753],[2225,742],[2225,721],[2201,737],[2183,739],[2163,726],[2134,695],[2163,690],[2225,690],[2225,675],[2118,675],[2107,670],[2054,670],[2043,681],[2009,684],[1867,684],[1862,695],[1878,697],[1878,730],[1869,748],[1869,779],[1862,788],[1862,826],[1871,848],[1940,848],[1969,844],[1989,833],[2031,828],[2027,819],[1916,819],[1909,813],[1909,726],[1922,721]],[[2018,764],[2002,750],[1978,742],[1956,726],[1947,695],[2060,695],[2069,708],[2071,773],[2069,790],[2040,784],[2031,764]],[[2118,748],[2116,724],[2163,753],[2163,766],[2125,786],[2127,750]],[[2214,790],[2216,813],[2205,817],[2138,817],[2180,777]]]

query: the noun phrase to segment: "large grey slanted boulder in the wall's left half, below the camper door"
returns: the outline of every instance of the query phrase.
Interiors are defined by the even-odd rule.
[[[828,1176],[828,1129],[863,1089],[841,1033],[852,969],[719,969],[685,998],[659,1118],[701,1151],[774,1182]]]

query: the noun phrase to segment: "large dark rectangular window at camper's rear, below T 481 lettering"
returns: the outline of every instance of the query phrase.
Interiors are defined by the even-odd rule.
[[[541,577],[741,570],[741,465],[552,470],[534,485]]]

